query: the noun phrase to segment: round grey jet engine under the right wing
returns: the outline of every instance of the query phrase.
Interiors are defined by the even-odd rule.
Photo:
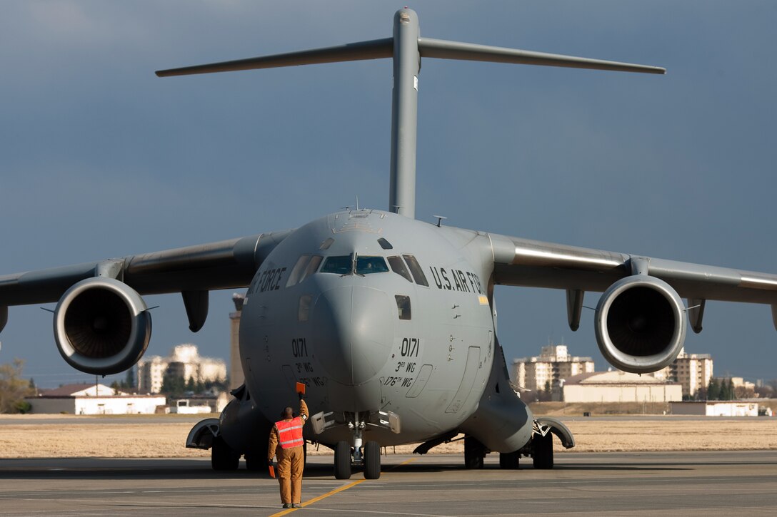
[[[672,287],[653,276],[627,276],[601,295],[596,341],[612,366],[650,373],[677,358],[685,342],[685,306]]]

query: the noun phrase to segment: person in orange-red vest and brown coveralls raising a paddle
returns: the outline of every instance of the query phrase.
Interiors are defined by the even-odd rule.
[[[308,421],[308,404],[302,400],[302,394],[299,394],[299,416],[295,417],[291,408],[284,408],[280,415],[282,419],[270,431],[267,463],[272,465],[273,456],[278,456],[277,477],[284,508],[302,508],[302,469],[305,467],[302,426]]]

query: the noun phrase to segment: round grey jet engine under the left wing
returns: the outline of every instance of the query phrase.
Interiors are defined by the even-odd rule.
[[[151,339],[151,314],[127,284],[107,277],[82,280],[54,311],[57,348],[77,370],[109,375],[127,370]]]

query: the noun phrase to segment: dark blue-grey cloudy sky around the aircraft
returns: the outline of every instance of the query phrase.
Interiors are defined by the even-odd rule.
[[[153,72],[391,35],[395,2],[0,2],[0,274],[386,209],[389,60]],[[543,241],[777,272],[775,2],[416,2],[423,36],[664,66],[666,76],[426,59],[416,217]],[[228,356],[232,292],[192,335],[150,297],[147,354]],[[598,295],[589,293],[586,304]],[[593,312],[497,289],[508,358],[549,341],[607,366]],[[51,307],[48,307],[51,308]],[[710,303],[688,352],[777,376],[769,308]],[[0,362],[88,379],[51,314],[12,307]]]

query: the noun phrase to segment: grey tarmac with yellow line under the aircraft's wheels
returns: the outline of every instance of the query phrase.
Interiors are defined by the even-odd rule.
[[[209,460],[0,460],[0,515],[777,515],[775,450],[562,453],[553,470],[389,455],[375,481],[335,480],[330,461],[310,457],[288,512],[267,474]]]

